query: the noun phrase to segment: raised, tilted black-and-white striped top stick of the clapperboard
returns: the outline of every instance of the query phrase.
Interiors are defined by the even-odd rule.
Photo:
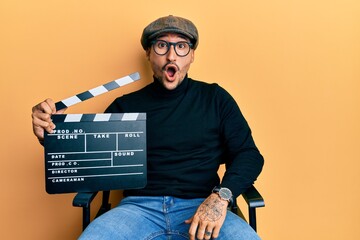
[[[55,103],[56,110],[58,111],[58,110],[70,107],[70,106],[72,106],[74,104],[83,102],[85,100],[88,100],[88,99],[96,97],[96,96],[99,96],[100,94],[109,92],[109,91],[114,90],[116,88],[122,87],[122,86],[124,86],[126,84],[135,82],[135,81],[137,81],[139,79],[140,79],[140,74],[138,72],[135,72],[135,73],[130,74],[128,76],[125,76],[125,77],[119,78],[117,80],[108,82],[108,83],[106,83],[104,85],[100,85],[100,86],[98,86],[96,88],[93,88],[93,89],[90,89],[88,91],[79,93],[79,94],[77,94],[75,96],[66,98],[66,99],[64,99],[62,101],[59,101],[59,102]]]

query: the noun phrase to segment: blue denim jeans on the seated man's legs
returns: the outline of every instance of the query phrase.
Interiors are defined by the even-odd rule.
[[[191,218],[203,198],[126,197],[114,209],[96,218],[80,240],[185,240]],[[228,211],[217,240],[260,239],[240,217]]]

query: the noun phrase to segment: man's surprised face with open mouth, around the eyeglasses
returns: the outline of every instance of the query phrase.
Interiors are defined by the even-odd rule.
[[[157,40],[164,40],[167,42],[189,42],[189,39],[176,33],[161,35]],[[173,46],[170,46],[169,51],[162,56],[155,53],[153,47],[150,47],[147,50],[146,55],[150,61],[155,78],[168,90],[173,90],[180,85],[184,80],[191,63],[194,61],[193,49],[190,50],[187,56],[179,57]]]

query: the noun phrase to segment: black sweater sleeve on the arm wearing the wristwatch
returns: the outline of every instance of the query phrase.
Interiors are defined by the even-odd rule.
[[[229,188],[234,197],[237,197],[257,179],[264,159],[235,100],[221,87],[218,98],[226,164],[221,186]]]

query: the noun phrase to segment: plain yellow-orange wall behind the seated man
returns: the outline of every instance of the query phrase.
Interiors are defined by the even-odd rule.
[[[2,0],[1,239],[75,239],[73,194],[45,192],[31,107],[139,71],[142,80],[71,107],[99,113],[151,80],[140,46],[150,21],[191,19],[190,76],[240,105],[265,157],[263,239],[359,239],[360,1]]]

